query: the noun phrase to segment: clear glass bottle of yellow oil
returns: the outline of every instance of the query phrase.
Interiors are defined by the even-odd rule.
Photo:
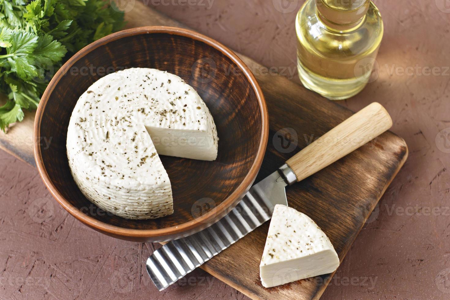
[[[332,100],[370,80],[383,21],[370,0],[306,0],[296,19],[297,68],[308,89]]]

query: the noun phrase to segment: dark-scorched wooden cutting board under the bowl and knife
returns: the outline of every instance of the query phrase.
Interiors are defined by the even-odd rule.
[[[142,6],[142,7],[141,7]],[[127,27],[182,24],[139,1],[126,14]],[[270,117],[269,143],[257,181],[263,179],[308,143],[351,116],[352,112],[306,90],[282,76],[261,75],[261,65],[239,55],[266,97]],[[34,112],[8,134],[0,134],[0,148],[35,166],[32,152]],[[46,143],[49,141],[42,141]],[[51,142],[51,141],[50,141]],[[350,141],[351,142],[351,141]],[[408,156],[403,139],[386,132],[315,175],[287,188],[289,206],[306,213],[324,230],[343,260]],[[256,182],[257,182],[256,181]],[[202,269],[252,299],[318,299],[332,274],[266,289],[259,279],[259,263],[269,222],[208,261]],[[368,258],[370,259],[370,258]]]

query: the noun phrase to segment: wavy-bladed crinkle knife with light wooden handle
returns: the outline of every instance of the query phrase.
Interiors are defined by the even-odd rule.
[[[391,126],[391,117],[379,103],[372,103],[349,117],[253,185],[224,218],[154,251],[147,260],[147,272],[153,283],[160,291],[169,287],[269,220],[276,204],[288,205],[287,185],[329,166]]]

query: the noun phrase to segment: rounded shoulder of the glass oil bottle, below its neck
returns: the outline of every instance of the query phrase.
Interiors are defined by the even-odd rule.
[[[339,32],[327,27],[316,13],[314,0],[308,0],[296,18],[297,39],[310,51],[324,57],[342,59],[378,49],[383,37],[383,20],[377,7],[371,3],[364,19],[349,31]]]

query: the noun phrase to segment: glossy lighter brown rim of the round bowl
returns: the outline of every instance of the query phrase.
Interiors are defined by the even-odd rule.
[[[40,124],[42,120],[42,116],[45,110],[45,106],[49,100],[50,94],[54,91],[55,86],[58,84],[59,80],[63,75],[70,70],[72,65],[76,63],[79,59],[83,58],[86,54],[90,53],[92,50],[97,49],[100,46],[108,44],[114,40],[119,40],[128,36],[135,36],[141,34],[153,34],[153,33],[166,33],[173,34],[179,36],[189,37],[194,40],[201,41],[207,45],[212,46],[213,48],[219,50],[222,54],[231,59],[243,72],[244,76],[246,76],[247,80],[252,85],[253,90],[255,91],[257,101],[259,104],[259,108],[261,111],[261,136],[260,143],[257,150],[257,155],[253,161],[250,170],[247,175],[238,185],[238,187],[222,201],[214,210],[207,212],[206,214],[195,218],[189,222],[181,223],[178,225],[173,225],[165,228],[158,229],[133,229],[133,228],[123,228],[115,225],[111,225],[108,223],[104,223],[100,220],[94,219],[89,215],[85,215],[78,208],[73,206],[63,195],[58,191],[58,189],[54,186],[52,181],[49,178],[49,175],[45,169],[44,162],[42,160],[42,154],[40,151]],[[36,161],[36,166],[39,171],[40,177],[44,181],[45,186],[49,189],[50,193],[53,197],[59,202],[61,206],[67,212],[69,212],[76,219],[84,223],[85,225],[90,226],[100,232],[109,233],[115,236],[121,237],[130,237],[130,238],[158,238],[162,237],[161,240],[164,240],[164,237],[174,237],[178,238],[184,235],[193,234],[202,230],[203,228],[210,226],[212,223],[216,222],[223,216],[225,216],[234,206],[238,204],[238,201],[247,193],[247,190],[251,187],[253,181],[256,179],[257,173],[261,167],[262,160],[264,158],[264,154],[266,152],[266,146],[269,136],[269,115],[267,112],[266,100],[262,93],[261,87],[257,83],[255,76],[253,76],[250,69],[247,65],[236,55],[233,51],[231,51],[225,45],[219,43],[216,40],[213,40],[207,36],[204,36],[198,32],[178,28],[178,27],[166,27],[166,26],[147,26],[147,27],[136,27],[131,29],[126,29],[122,31],[118,31],[112,33],[108,36],[105,36],[99,40],[94,41],[93,43],[85,46],[83,49],[74,54],[69,60],[63,64],[63,66],[56,72],[53,76],[52,80],[49,82],[49,85],[45,89],[44,94],[40,100],[39,106],[36,110],[36,118],[34,121],[33,128],[33,149],[34,149],[34,157]],[[188,233],[188,234],[187,234]]]

